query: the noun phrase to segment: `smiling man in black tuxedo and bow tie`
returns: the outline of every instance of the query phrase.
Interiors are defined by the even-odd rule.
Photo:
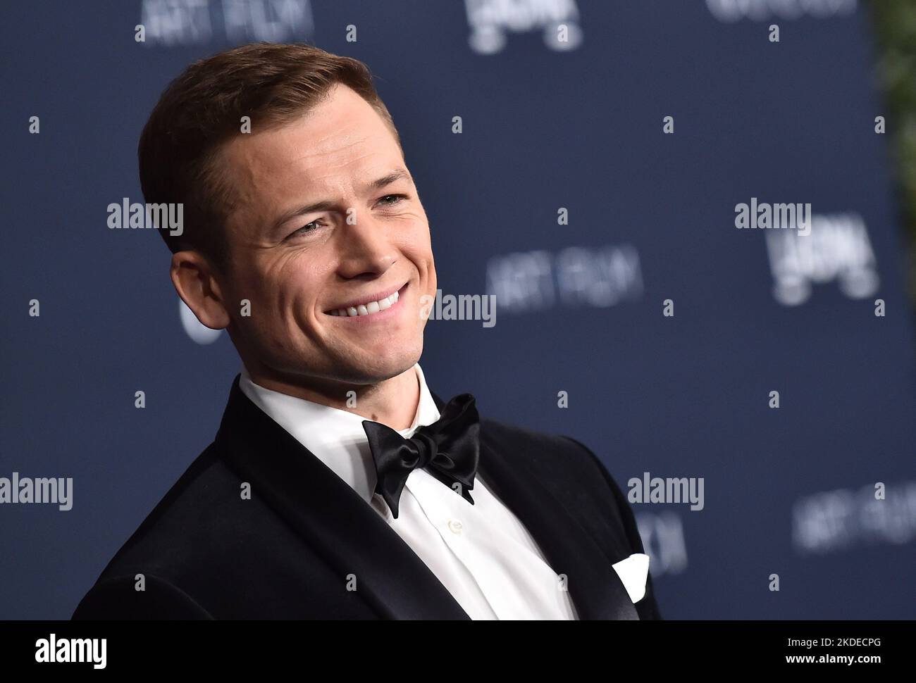
[[[139,145],[172,283],[243,363],[213,441],[77,619],[658,619],[627,501],[573,439],[420,369],[430,229],[361,62],[193,64]]]

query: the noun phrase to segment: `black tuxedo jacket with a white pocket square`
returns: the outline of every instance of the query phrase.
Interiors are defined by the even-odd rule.
[[[432,395],[442,410],[439,396]],[[574,439],[481,418],[478,472],[565,574],[580,619],[659,619],[611,567],[633,513]],[[251,486],[250,499],[242,487]],[[137,574],[145,590],[138,591]],[[356,590],[347,590],[348,577]],[[350,587],[352,588],[352,582]],[[469,619],[358,493],[256,407],[236,376],[213,443],[109,562],[73,619]]]

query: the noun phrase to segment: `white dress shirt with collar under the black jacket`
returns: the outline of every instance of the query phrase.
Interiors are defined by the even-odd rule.
[[[420,403],[404,438],[439,419],[420,369]],[[573,601],[516,515],[478,473],[468,503],[422,469],[410,472],[398,518],[376,489],[376,468],[363,429],[365,417],[280,394],[252,382],[240,386],[257,407],[310,450],[372,505],[423,560],[472,619],[576,619]]]

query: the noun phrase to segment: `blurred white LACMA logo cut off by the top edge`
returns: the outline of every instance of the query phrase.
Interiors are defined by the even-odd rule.
[[[582,44],[575,0],[464,0],[468,42],[474,52],[492,55],[506,48],[507,33],[540,30],[544,45],[563,52]]]

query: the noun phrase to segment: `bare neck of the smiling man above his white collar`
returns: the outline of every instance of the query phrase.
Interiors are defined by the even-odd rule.
[[[410,428],[420,404],[420,376],[412,365],[403,373],[374,385],[354,385],[322,378],[309,378],[306,385],[291,383],[257,370],[252,372],[247,365],[245,369],[251,381],[265,389],[346,410],[392,429]]]

